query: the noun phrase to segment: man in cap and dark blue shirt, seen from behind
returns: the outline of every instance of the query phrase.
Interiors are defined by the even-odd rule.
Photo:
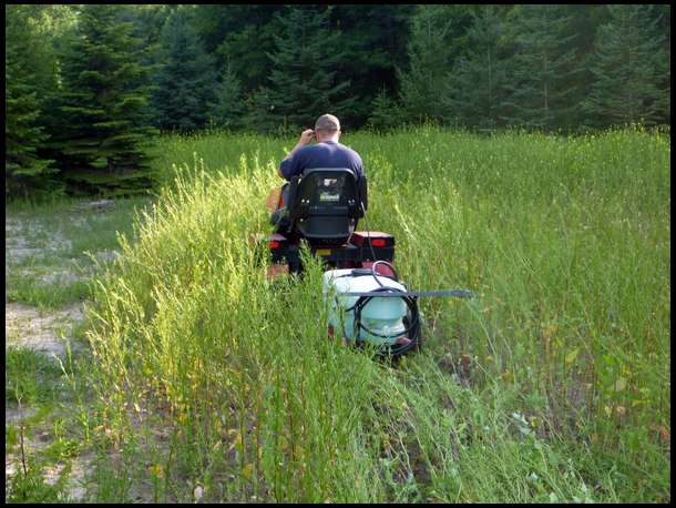
[[[310,144],[313,138],[316,144]],[[340,138],[340,122],[332,114],[322,114],[315,123],[315,130],[307,129],[300,134],[300,140],[294,150],[279,164],[278,174],[290,181],[294,176],[303,174],[305,170],[313,167],[347,167],[355,172],[357,179],[363,175],[363,163],[361,158],[352,149],[338,142]],[[288,184],[281,189],[283,207],[279,205],[279,190],[273,191],[268,197],[268,207],[275,210],[270,222],[281,225],[286,209],[286,191]]]

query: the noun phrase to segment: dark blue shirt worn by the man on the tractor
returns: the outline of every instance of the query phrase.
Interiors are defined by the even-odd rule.
[[[291,180],[305,170],[314,167],[347,167],[355,172],[357,179],[363,174],[363,163],[359,154],[335,141],[303,146],[279,164],[281,175],[286,180]]]

